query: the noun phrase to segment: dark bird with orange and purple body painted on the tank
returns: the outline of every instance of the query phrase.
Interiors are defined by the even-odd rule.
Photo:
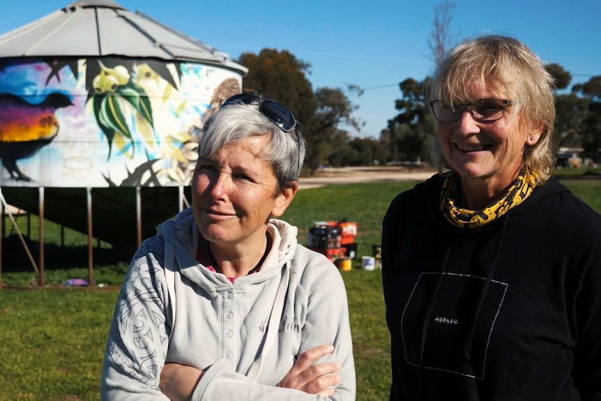
[[[10,177],[31,181],[17,166],[17,160],[31,158],[59,133],[56,109],[73,105],[64,93],[49,93],[32,104],[10,93],[0,93],[0,158]]]

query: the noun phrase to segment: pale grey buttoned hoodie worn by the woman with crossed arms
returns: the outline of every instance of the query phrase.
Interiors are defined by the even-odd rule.
[[[169,400],[158,383],[166,362],[205,371],[199,400],[325,400],[276,387],[296,357],[319,345],[342,365],[329,400],[355,399],[347,294],[337,268],[271,220],[272,248],[252,275],[231,283],[199,264],[191,209],[142,243],[117,301],[102,372],[102,400]]]

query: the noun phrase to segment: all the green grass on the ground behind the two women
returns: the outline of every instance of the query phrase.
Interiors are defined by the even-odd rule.
[[[601,211],[601,181],[564,183]],[[353,270],[341,273],[349,296],[357,399],[361,401],[388,398],[390,337],[381,271],[360,270],[359,258],[371,255],[371,245],[380,242],[381,220],[390,201],[413,185],[370,183],[302,190],[283,216],[298,227],[301,243],[314,221],[358,223],[358,259],[353,261]],[[26,219],[20,219],[26,232]],[[32,238],[37,224],[32,217]],[[45,224],[46,241],[52,241],[52,246],[46,247],[56,252],[47,255],[46,282],[53,288],[0,290],[0,401],[99,400],[102,357],[127,262],[111,259],[109,245],[100,244],[95,250],[99,262],[94,277],[96,282],[117,287],[60,288],[67,278],[87,278],[87,239],[84,234],[69,232],[68,246],[61,248],[60,227]],[[35,282],[35,275],[25,264],[3,271],[2,279],[6,284],[29,285]]]

